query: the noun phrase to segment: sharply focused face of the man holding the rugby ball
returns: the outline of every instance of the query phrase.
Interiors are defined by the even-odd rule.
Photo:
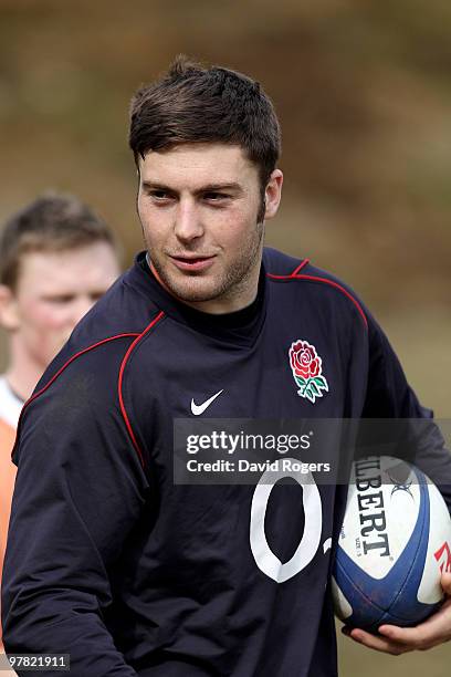
[[[265,190],[265,218],[279,206],[282,174]],[[138,213],[151,263],[170,293],[223,313],[252,302],[263,222],[258,168],[239,146],[182,144],[140,162]]]

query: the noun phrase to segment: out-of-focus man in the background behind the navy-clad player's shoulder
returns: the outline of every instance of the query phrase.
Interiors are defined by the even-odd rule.
[[[20,410],[75,324],[118,274],[111,230],[74,197],[40,197],[1,232],[0,324],[8,332],[9,364],[0,376],[0,571]]]

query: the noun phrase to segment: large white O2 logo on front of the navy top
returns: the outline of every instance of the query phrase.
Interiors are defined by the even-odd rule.
[[[296,459],[289,459],[295,461]],[[282,459],[277,461],[282,462]],[[282,564],[268,544],[264,532],[264,518],[271,491],[276,482],[284,477],[293,478],[303,488],[304,533],[291,560]],[[298,574],[315,556],[323,528],[323,507],[321,496],[311,472],[283,471],[282,469],[266,470],[260,478],[252,497],[251,507],[251,550],[258,567],[276,583],[284,583]],[[331,539],[324,543],[324,552],[331,548]]]

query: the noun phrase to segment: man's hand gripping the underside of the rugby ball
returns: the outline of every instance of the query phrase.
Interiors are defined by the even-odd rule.
[[[451,573],[442,574],[440,582],[447,600],[438,612],[420,625],[415,627],[380,625],[378,636],[345,625],[342,628],[343,634],[368,648],[394,656],[416,649],[423,652],[448,642],[451,639]]]

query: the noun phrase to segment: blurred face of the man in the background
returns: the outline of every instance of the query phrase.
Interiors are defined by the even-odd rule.
[[[21,259],[6,326],[43,369],[118,274],[116,254],[107,242],[27,253]]]

